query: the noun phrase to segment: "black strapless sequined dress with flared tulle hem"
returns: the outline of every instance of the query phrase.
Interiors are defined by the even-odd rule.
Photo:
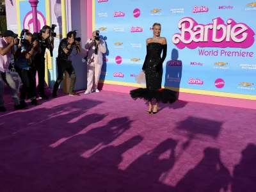
[[[163,56],[161,53],[163,51]],[[147,88],[131,90],[132,99],[154,100],[157,102],[172,104],[177,100],[177,93],[172,90],[163,89],[163,62],[166,58],[167,45],[152,42],[147,45],[147,56],[142,70],[145,72]]]

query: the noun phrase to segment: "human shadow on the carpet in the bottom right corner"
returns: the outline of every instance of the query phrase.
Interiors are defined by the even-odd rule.
[[[241,153],[242,157],[234,167],[232,192],[256,191],[256,145],[250,143]]]

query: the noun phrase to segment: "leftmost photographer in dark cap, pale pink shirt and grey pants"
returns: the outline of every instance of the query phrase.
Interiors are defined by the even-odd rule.
[[[4,83],[12,89],[12,100],[15,109],[26,109],[25,104],[20,104],[17,88],[12,75],[10,74],[9,65],[11,62],[12,53],[14,54],[14,45],[19,44],[17,34],[7,30],[4,32],[4,37],[0,38],[0,112],[6,111],[4,108]]]

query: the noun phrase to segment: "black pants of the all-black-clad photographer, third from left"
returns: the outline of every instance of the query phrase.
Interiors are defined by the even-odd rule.
[[[42,58],[42,60],[36,60],[35,65],[38,74],[39,96],[44,96],[45,58]]]

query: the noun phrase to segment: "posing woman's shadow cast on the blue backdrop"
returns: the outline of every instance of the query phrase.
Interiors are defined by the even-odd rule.
[[[177,98],[179,99],[180,81],[182,78],[182,61],[179,59],[179,51],[172,49],[172,58],[166,62],[165,70],[165,88],[173,88],[177,92]]]

